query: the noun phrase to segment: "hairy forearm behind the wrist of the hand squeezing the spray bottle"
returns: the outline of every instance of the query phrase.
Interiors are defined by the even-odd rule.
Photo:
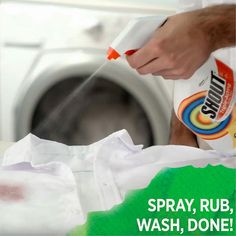
[[[236,4],[215,5],[196,11],[197,27],[206,35],[212,51],[235,46]]]

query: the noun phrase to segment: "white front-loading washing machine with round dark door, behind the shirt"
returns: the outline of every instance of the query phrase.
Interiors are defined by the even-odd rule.
[[[106,50],[131,18],[174,14],[175,1],[112,2],[1,2],[0,139],[83,145],[127,129],[137,144],[168,143],[173,83]]]

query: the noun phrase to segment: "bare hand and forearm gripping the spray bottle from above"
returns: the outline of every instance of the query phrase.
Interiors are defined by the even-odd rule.
[[[188,79],[216,49],[235,45],[235,4],[222,4],[171,16],[132,56],[140,74]]]

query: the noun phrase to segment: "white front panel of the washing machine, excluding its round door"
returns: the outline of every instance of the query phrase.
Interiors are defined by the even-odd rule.
[[[159,12],[158,6],[153,8],[153,1],[145,4],[146,7],[141,3],[138,7],[139,4],[128,1],[130,6],[135,6],[133,8],[123,4],[125,1],[120,1],[123,4],[121,4],[122,11],[117,5],[119,1],[114,1],[110,8],[108,1],[88,1],[90,4],[86,5],[81,2],[59,0],[1,2],[0,139],[6,141],[16,139],[15,112],[21,99],[19,96],[22,94],[22,86],[35,72],[31,69],[39,70],[37,66],[42,64],[40,60],[44,60],[44,56],[47,59],[50,57],[46,53],[48,50],[73,51],[73,48],[82,51],[100,50],[104,51],[105,58],[109,44],[131,18],[154,13],[174,14],[175,8],[171,0],[165,7],[164,4],[160,5]],[[155,89],[159,86],[156,80],[160,78],[144,79],[150,91],[155,93]],[[169,101],[167,113],[170,113],[172,82],[161,83],[166,100]]]

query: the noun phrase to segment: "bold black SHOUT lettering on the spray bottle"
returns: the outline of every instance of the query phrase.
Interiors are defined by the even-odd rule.
[[[218,115],[225,94],[225,85],[225,80],[211,71],[210,89],[201,108],[201,112],[204,115],[209,116],[212,120],[214,120]]]

